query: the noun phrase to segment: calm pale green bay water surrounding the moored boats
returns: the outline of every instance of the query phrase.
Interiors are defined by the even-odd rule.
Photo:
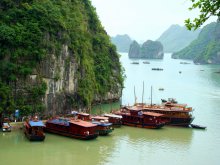
[[[0,132],[0,165],[219,165],[220,157],[220,70],[218,65],[180,64],[183,60],[148,60],[150,64],[130,64],[127,54],[121,61],[127,75],[122,104],[150,103],[174,97],[194,108],[195,124],[207,130],[164,127],[160,130],[122,127],[112,135],[82,141],[47,134],[44,142],[29,142],[21,130]],[[152,71],[160,67],[163,71]],[[201,71],[204,70],[204,71]],[[179,74],[179,71],[182,71]],[[164,88],[159,91],[158,88]],[[117,107],[97,106],[94,113]],[[100,107],[100,108],[99,108]],[[101,110],[100,110],[101,109]]]

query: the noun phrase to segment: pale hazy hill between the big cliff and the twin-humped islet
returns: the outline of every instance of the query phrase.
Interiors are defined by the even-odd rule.
[[[132,43],[131,38],[127,34],[111,37],[111,41],[116,45],[118,52],[128,52]]]

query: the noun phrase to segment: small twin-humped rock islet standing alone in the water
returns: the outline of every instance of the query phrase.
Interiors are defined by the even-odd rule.
[[[140,46],[133,41],[128,53],[129,58],[162,59],[163,45],[159,41],[147,40]]]

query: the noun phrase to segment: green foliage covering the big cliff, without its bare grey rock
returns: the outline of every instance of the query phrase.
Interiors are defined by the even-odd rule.
[[[43,75],[38,73],[33,87],[25,82],[45,59],[59,58],[63,45],[77,64],[73,102],[90,106],[95,96],[121,90],[119,55],[90,0],[0,1],[0,82],[11,91],[8,96],[13,96],[16,107],[26,112],[45,109]],[[55,79],[59,80],[59,73]],[[19,89],[28,94],[18,98],[16,86],[21,81],[24,85]]]

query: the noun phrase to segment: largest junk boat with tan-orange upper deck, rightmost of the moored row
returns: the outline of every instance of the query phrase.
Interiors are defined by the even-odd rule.
[[[159,105],[135,104],[135,106],[142,108],[144,112],[164,114],[161,117],[167,125],[189,127],[194,120],[192,107],[188,107],[187,104],[178,104],[175,99],[162,100],[162,104]]]

